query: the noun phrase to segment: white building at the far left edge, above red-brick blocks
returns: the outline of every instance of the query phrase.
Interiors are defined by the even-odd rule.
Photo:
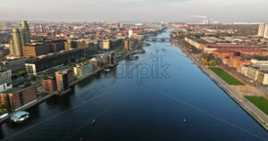
[[[13,88],[12,71],[0,71],[0,92]]]

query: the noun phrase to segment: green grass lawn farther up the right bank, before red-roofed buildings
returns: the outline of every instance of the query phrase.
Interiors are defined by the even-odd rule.
[[[229,73],[223,71],[221,68],[209,68],[211,71],[214,71],[215,74],[217,74],[221,79],[223,79],[226,83],[229,85],[239,86],[239,85],[245,85],[244,83],[240,82],[238,79],[235,79],[232,77]]]

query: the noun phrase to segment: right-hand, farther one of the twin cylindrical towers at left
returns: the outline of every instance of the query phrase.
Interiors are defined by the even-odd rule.
[[[22,46],[26,46],[30,43],[29,25],[27,21],[21,21],[21,43]]]

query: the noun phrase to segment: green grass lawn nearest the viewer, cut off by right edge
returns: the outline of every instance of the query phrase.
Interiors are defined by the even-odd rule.
[[[261,111],[268,115],[268,100],[261,96],[245,96],[248,101],[255,104]]]

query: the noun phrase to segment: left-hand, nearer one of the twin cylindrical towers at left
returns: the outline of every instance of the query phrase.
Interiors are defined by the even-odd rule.
[[[13,55],[22,56],[22,43],[20,29],[13,29]]]

